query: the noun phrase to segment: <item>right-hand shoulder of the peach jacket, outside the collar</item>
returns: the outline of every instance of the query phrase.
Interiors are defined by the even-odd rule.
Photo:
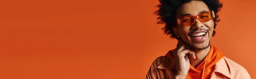
[[[236,76],[236,78],[239,79],[250,79],[249,73],[243,66],[239,65],[238,63],[227,57],[224,57],[224,59],[227,63],[231,76]]]

